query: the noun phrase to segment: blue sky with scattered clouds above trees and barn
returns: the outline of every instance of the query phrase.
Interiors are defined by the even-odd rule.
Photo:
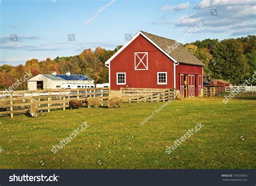
[[[77,55],[97,46],[114,49],[125,44],[126,33],[139,30],[177,40],[197,23],[204,26],[184,44],[242,37],[255,34],[255,12],[254,0],[0,0],[0,65]],[[68,34],[75,34],[75,41],[68,41]]]

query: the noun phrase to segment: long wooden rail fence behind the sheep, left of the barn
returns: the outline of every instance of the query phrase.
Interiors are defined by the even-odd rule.
[[[29,111],[31,99],[36,99],[39,111],[63,109],[69,107],[71,99],[82,101],[85,97],[99,97],[103,104],[109,99],[109,88],[86,88],[86,89],[48,89],[38,91],[2,91],[0,92],[0,116]],[[3,111],[3,109],[6,111]]]

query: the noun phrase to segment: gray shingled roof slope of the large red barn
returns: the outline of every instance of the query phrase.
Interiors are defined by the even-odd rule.
[[[150,40],[152,40],[157,46],[159,46],[163,51],[166,52],[166,49],[169,49],[170,56],[172,56],[173,59],[178,61],[179,63],[184,63],[187,65],[197,65],[197,66],[205,66],[203,62],[201,62],[199,59],[197,59],[193,54],[187,51],[187,49],[182,45],[178,45],[179,43],[172,39],[167,39],[160,37],[158,35],[154,35],[151,33],[140,31],[143,34],[146,35]],[[176,48],[177,47],[177,48]]]

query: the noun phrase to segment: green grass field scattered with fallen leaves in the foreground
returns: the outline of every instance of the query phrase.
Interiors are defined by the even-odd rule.
[[[174,101],[143,126],[163,102],[124,103],[120,109],[85,107],[0,118],[1,169],[252,169],[256,168],[256,97]],[[52,145],[77,134],[56,154]],[[173,144],[197,123],[197,133],[170,155]]]

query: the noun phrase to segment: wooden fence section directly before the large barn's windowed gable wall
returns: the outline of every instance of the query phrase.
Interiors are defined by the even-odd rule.
[[[170,101],[176,97],[175,89],[144,89],[121,88],[120,95],[123,102],[160,102]]]

